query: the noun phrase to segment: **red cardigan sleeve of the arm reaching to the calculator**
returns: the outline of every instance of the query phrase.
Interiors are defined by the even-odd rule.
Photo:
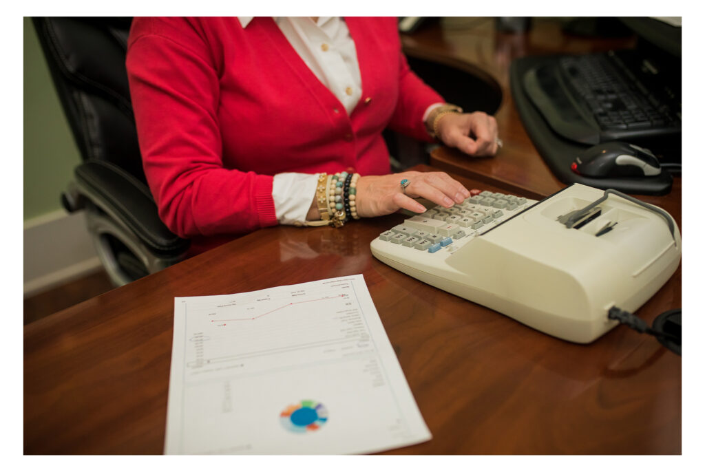
[[[169,21],[135,18],[126,62],[159,216],[181,237],[276,225],[273,177],[223,167],[219,73],[203,32],[184,18]]]

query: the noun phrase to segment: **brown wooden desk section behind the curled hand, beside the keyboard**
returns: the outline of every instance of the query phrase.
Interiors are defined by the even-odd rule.
[[[495,114],[504,146],[491,159],[472,159],[456,149],[439,147],[431,153],[431,166],[496,184],[510,192],[521,192],[541,199],[565,187],[541,159],[522,125],[510,92],[509,66],[514,58],[546,54],[586,54],[627,49],[635,37],[594,39],[565,34],[556,19],[534,18],[525,34],[496,32],[492,18],[443,18],[413,35],[402,36],[407,54],[433,57],[441,63],[461,64],[464,70],[477,71],[479,77],[494,80],[502,92],[502,103]],[[680,177],[673,192],[680,194]],[[680,197],[680,195],[678,196]],[[639,196],[660,205],[661,197]]]

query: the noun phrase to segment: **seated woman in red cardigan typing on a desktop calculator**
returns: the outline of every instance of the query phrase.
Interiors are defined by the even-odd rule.
[[[345,170],[360,176],[338,194],[340,222],[470,196],[446,173],[390,175],[387,127],[497,151],[494,118],[458,112],[410,71],[396,18],[135,18],[127,67],[159,214],[196,251],[277,223],[338,223],[331,175]]]

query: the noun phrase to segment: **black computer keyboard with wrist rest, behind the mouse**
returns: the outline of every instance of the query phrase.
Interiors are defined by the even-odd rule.
[[[680,134],[680,70],[632,51],[559,56],[528,70],[523,85],[548,125],[575,142]]]

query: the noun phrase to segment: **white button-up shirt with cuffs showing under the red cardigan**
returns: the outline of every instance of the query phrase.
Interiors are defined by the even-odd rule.
[[[245,30],[252,18],[238,16]],[[350,115],[362,97],[362,78],[355,42],[343,18],[321,16],[315,23],[307,16],[275,17],[274,20],[289,44]],[[424,120],[435,106],[429,106]],[[305,173],[274,175],[271,195],[279,223],[291,225],[306,220],[317,181],[318,175]]]

